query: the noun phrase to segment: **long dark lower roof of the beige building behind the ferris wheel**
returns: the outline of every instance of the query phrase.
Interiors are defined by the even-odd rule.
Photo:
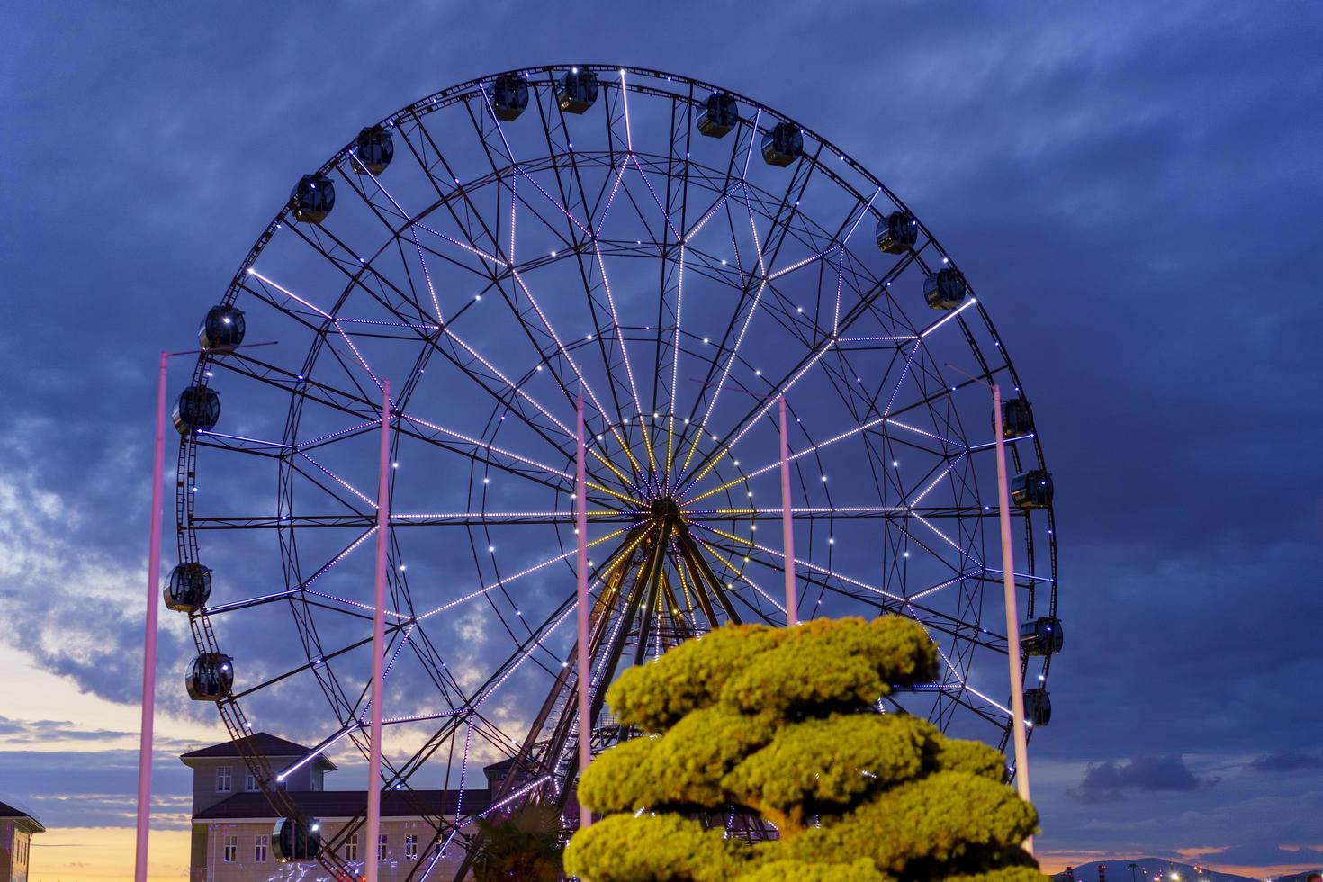
[[[366,791],[288,791],[290,799],[308,817],[355,817],[368,811]],[[464,815],[484,812],[491,805],[491,791],[466,789]],[[459,808],[459,791],[385,791],[381,793],[381,817],[454,816]],[[262,793],[235,793],[193,816],[194,821],[230,819],[270,819],[273,811]]]

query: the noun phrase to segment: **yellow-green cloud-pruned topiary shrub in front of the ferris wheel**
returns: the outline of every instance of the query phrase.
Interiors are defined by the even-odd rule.
[[[607,692],[644,735],[606,751],[579,795],[606,817],[574,834],[585,882],[1044,882],[1020,844],[1037,815],[1003,758],[881,714],[927,682],[937,651],[902,616],[733,625],[631,668]],[[758,815],[750,845],[700,816]]]

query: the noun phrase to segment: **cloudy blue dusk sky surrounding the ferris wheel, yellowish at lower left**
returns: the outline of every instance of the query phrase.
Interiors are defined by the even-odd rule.
[[[1057,489],[1045,869],[1323,863],[1320,38],[1286,1],[9,4],[0,801],[49,830],[34,878],[131,875],[157,353],[359,128],[581,61],[822,132],[998,323]],[[163,625],[153,878],[179,878],[177,755],[224,729]]]

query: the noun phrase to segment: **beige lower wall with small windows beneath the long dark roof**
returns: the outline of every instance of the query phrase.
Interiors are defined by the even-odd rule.
[[[323,838],[332,838],[348,821],[349,819],[320,819]],[[321,873],[310,875],[310,863],[307,862],[277,863],[275,853],[271,849],[271,830],[274,826],[275,822],[269,820],[194,821],[194,849],[201,845],[205,853],[197,854],[194,852],[194,861],[202,858],[202,861],[194,862],[194,867],[201,865],[206,869],[201,874],[194,874],[193,882],[283,882],[286,879],[311,882],[312,879],[328,878]],[[404,882],[409,877],[409,873],[418,865],[418,861],[422,860],[427,844],[431,842],[434,830],[422,819],[392,817],[381,820],[381,833],[386,837],[386,856],[377,865],[378,878],[381,882]],[[417,858],[406,857],[406,837],[409,836],[418,837]],[[258,848],[259,837],[265,837],[266,842],[265,861],[258,860],[262,854]],[[232,853],[233,860],[228,861],[225,846],[229,842],[233,842],[234,849]],[[360,873],[370,857],[365,842],[365,834],[363,828],[360,828],[357,858],[349,858],[345,854],[344,846],[340,849],[340,856]],[[452,854],[437,862],[431,878],[454,878],[455,873],[459,871],[463,857],[463,852],[455,848]],[[311,866],[320,870],[316,862],[311,862]]]

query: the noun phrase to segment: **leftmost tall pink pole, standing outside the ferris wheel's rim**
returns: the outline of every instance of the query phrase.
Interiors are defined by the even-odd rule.
[[[147,836],[152,816],[152,726],[156,721],[156,614],[161,579],[161,483],[165,480],[165,365],[156,382],[156,447],[152,452],[152,518],[147,545],[147,635],[143,639],[143,723],[138,742],[138,849],[134,879],[147,879]]]

